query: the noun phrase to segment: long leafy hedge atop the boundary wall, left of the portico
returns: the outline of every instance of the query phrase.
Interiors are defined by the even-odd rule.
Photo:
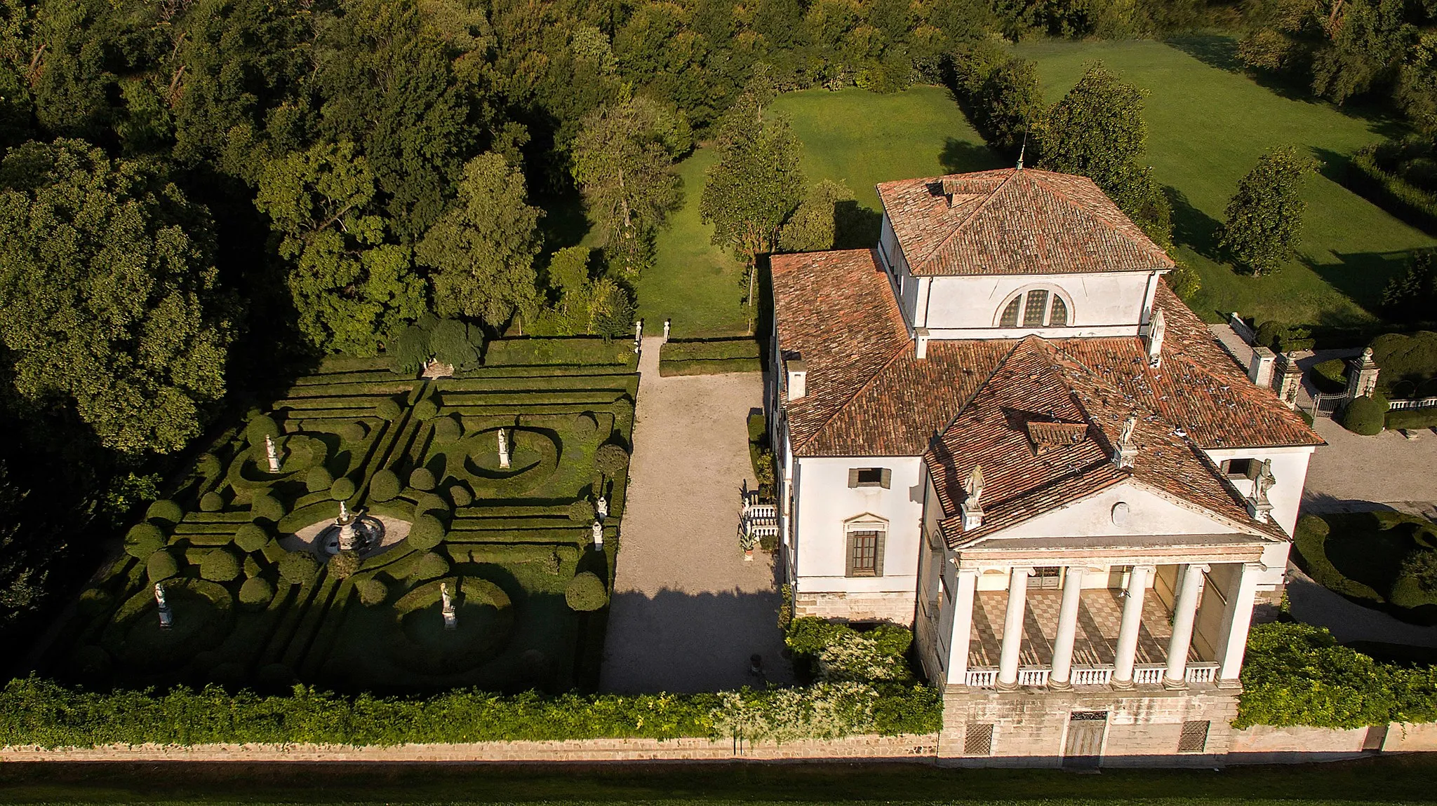
[[[286,696],[201,691],[83,691],[36,677],[0,691],[0,744],[320,743],[392,746],[683,736],[818,737],[934,733],[943,701],[923,686],[776,688],[721,694],[514,696],[448,691],[431,698],[341,697],[296,687]],[[835,719],[835,704],[861,719]],[[810,719],[802,719],[812,714]],[[795,719],[798,716],[798,719]]]

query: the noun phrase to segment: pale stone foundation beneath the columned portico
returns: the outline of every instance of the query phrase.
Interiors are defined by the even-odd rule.
[[[989,691],[950,686],[943,708],[938,763],[946,766],[1063,766],[1069,726],[1076,724],[1071,721],[1073,711],[1106,714],[1101,727],[1089,723],[1101,736],[1102,766],[1213,766],[1223,763],[1233,744],[1237,690]],[[1184,724],[1196,730],[1203,721],[1207,734],[1201,747],[1180,753]]]

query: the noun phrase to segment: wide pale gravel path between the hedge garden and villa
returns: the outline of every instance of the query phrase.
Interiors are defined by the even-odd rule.
[[[749,410],[763,376],[660,377],[644,338],[634,453],[599,687],[718,691],[787,683],[773,559],[739,551],[739,492],[754,486]]]

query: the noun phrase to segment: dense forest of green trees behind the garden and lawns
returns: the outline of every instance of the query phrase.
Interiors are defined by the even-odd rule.
[[[26,615],[88,572],[177,456],[286,371],[378,354],[427,313],[486,337],[628,331],[654,234],[697,192],[674,162],[717,139],[734,165],[796,165],[782,131],[750,132],[775,92],[951,85],[957,62],[1004,39],[1227,27],[1249,65],[1311,76],[1338,102],[1392,98],[1430,129],[1431,13],[1398,0],[4,0],[0,634],[33,630]],[[796,221],[785,238],[823,229],[809,207],[836,192],[782,199]],[[576,196],[598,250],[546,221]],[[724,205],[750,201],[717,182],[710,196],[720,231]],[[750,264],[752,241],[733,237]]]

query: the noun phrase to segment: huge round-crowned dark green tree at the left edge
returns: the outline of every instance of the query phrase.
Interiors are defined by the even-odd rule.
[[[122,453],[184,447],[224,394],[230,301],[208,212],[80,141],[0,163],[0,343],[23,406]]]

